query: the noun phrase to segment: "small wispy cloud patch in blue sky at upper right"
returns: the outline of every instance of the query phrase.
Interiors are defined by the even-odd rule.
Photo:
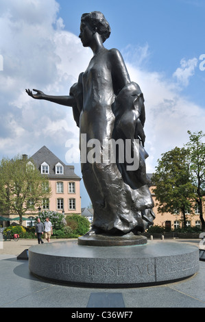
[[[189,85],[189,79],[194,75],[197,62],[197,58],[192,58],[189,60],[182,58],[182,60],[180,61],[181,66],[173,73],[173,77],[176,77],[179,84],[181,84],[182,86]]]

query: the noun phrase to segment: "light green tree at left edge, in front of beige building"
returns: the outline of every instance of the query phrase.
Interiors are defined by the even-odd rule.
[[[20,217],[27,210],[41,206],[51,193],[47,177],[40,175],[32,160],[16,156],[0,162],[0,212],[15,213]]]

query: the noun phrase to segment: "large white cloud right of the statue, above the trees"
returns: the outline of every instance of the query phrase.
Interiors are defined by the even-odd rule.
[[[183,97],[178,83],[155,72],[141,71],[127,62],[132,81],[137,82],[145,97],[145,149],[147,172],[154,171],[162,153],[182,147],[189,140],[187,130],[204,129],[205,111]]]

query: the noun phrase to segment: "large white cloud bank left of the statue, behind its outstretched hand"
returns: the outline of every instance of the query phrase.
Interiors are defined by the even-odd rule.
[[[69,95],[69,88],[86,69],[91,52],[80,39],[64,31],[55,0],[0,2],[0,155],[32,155],[43,145],[51,151],[78,135],[71,108],[28,97],[25,88],[51,95]]]

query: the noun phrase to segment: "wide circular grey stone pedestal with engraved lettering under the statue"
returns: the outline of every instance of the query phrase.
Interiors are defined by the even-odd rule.
[[[95,247],[55,242],[29,248],[29,270],[48,280],[84,286],[133,287],[173,282],[199,269],[196,246],[165,240]]]

